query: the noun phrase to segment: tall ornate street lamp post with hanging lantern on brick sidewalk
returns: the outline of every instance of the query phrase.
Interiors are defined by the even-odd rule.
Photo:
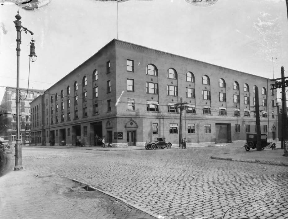
[[[21,134],[20,134],[20,92],[19,92],[19,60],[20,60],[20,43],[21,43],[21,31],[24,30],[25,33],[27,31],[33,36],[34,33],[28,30],[27,28],[21,25],[21,16],[19,15],[19,10],[17,15],[15,16],[17,20],[14,20],[14,24],[17,31],[17,47],[16,47],[16,55],[17,55],[17,87],[16,87],[16,144],[15,144],[15,167],[14,170],[21,170],[22,167],[22,143],[21,143]],[[35,55],[35,46],[34,40],[30,42],[30,60],[34,62],[37,58]]]

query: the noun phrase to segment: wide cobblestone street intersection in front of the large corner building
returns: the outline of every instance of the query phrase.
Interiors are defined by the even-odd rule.
[[[164,218],[288,217],[285,204],[288,199],[287,167],[209,158],[226,151],[236,153],[243,148],[87,149],[24,148],[22,164],[26,171],[54,173],[79,180]],[[53,183],[52,177],[45,179]],[[95,215],[90,208],[93,201],[83,199],[82,202],[81,206],[86,206],[89,214]],[[50,203],[55,203],[55,209],[59,208],[57,199],[49,199],[47,204]],[[80,212],[79,203],[78,207],[74,205],[69,203],[70,211]],[[86,215],[85,212],[81,214]],[[114,217],[124,218],[123,215]]]

